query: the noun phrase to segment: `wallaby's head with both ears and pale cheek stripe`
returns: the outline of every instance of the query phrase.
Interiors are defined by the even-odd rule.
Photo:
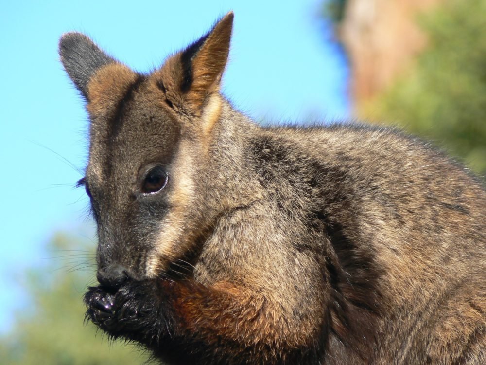
[[[62,63],[91,120],[79,183],[91,199],[98,278],[107,286],[160,274],[194,249],[218,213],[207,203],[200,171],[221,114],[232,23],[230,12],[150,74],[132,71],[82,34],[60,41]]]

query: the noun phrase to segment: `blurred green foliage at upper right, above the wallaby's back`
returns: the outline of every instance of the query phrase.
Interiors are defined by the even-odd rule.
[[[447,1],[420,18],[429,46],[406,77],[364,106],[438,141],[486,174],[486,0]]]

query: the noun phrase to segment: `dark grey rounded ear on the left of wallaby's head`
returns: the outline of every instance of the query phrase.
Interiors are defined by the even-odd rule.
[[[91,39],[75,32],[66,33],[61,37],[59,55],[64,69],[86,99],[88,99],[87,85],[94,73],[104,65],[116,63]]]

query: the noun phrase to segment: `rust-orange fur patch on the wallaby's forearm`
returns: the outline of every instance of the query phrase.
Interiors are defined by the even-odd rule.
[[[282,321],[278,306],[257,293],[228,282],[217,282],[212,290],[197,283],[175,285],[174,309],[187,330],[217,343],[223,337],[248,346],[302,347],[312,341],[318,328],[294,327]],[[217,308],[217,310],[216,310]]]

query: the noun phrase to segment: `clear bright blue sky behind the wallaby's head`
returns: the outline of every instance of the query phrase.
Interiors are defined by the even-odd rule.
[[[24,272],[42,266],[53,233],[89,224],[83,189],[87,116],[64,73],[57,41],[84,32],[137,71],[235,12],[223,92],[256,120],[349,115],[347,66],[318,17],[321,1],[4,1],[0,11],[0,331],[28,305]],[[66,161],[69,163],[66,163]],[[72,167],[72,164],[74,167]]]

